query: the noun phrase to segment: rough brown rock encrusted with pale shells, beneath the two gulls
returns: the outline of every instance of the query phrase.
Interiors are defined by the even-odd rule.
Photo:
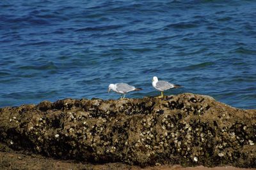
[[[86,162],[256,167],[256,110],[195,94],[44,101],[1,108],[0,143]]]

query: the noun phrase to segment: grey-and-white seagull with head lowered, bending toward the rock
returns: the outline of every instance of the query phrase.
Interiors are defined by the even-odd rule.
[[[121,94],[121,99],[124,99],[125,94],[127,92],[132,92],[132,91],[139,91],[142,90],[141,88],[135,88],[132,85],[128,85],[127,83],[116,83],[116,84],[109,84],[108,86],[108,92],[113,90],[116,93]],[[124,97],[123,97],[124,94]],[[123,98],[122,98],[123,97]]]

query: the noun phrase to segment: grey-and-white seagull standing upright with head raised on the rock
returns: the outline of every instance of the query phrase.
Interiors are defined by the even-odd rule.
[[[180,85],[174,85],[172,83],[169,83],[168,81],[158,81],[157,76],[154,76],[152,79],[152,86],[161,92],[161,96],[159,98],[164,97],[164,90],[172,89],[172,88],[179,88]]]

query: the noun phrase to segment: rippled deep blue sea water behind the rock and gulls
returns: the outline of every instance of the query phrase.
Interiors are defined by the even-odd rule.
[[[0,107],[159,95],[256,108],[256,1],[0,1]]]

